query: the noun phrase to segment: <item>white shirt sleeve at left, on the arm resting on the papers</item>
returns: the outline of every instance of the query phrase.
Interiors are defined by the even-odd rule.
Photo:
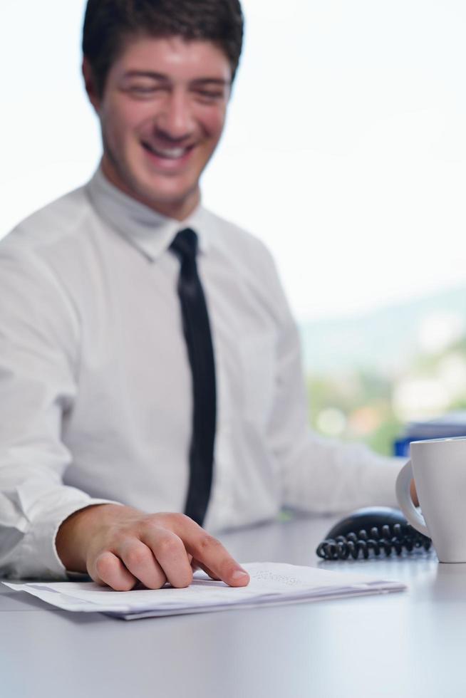
[[[0,248],[0,575],[66,578],[60,524],[91,499],[63,484],[71,454],[61,440],[73,407],[79,321],[46,264]]]

